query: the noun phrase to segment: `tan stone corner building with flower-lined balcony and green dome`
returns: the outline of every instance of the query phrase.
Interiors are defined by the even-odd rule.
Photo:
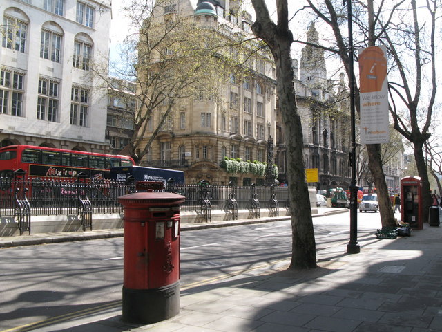
[[[164,10],[164,16],[170,15],[172,10],[175,15],[189,15],[197,24],[220,32],[250,33],[251,17],[246,12],[241,15],[231,12],[237,1],[172,2]],[[276,133],[273,61],[260,52],[260,57],[251,57],[247,66],[247,77],[238,79],[233,74],[227,77],[216,93],[219,98],[200,93],[177,102],[140,165],[183,170],[187,183],[206,180],[218,185],[250,185],[264,181],[264,174],[227,172],[222,167],[225,157],[265,162],[267,138]],[[158,127],[160,115],[167,106],[165,104],[151,116],[144,136],[146,141]]]

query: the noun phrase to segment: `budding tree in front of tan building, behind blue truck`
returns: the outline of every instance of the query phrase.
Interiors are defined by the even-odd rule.
[[[248,68],[243,64],[247,58],[242,62],[233,59],[231,47],[244,57],[259,49],[240,34],[233,36],[215,25],[198,24],[192,13],[171,6],[176,5],[167,0],[129,1],[124,10],[134,32],[125,39],[119,63],[111,65],[119,80],[109,79],[107,71],[95,68],[114,96],[127,105],[135,100],[135,112],[128,113],[135,115],[134,131],[123,152],[137,164],[148,154],[157,133],[167,127],[180,102],[203,93],[224,98],[221,87],[229,74],[246,75]],[[119,86],[125,80],[135,84],[133,93]],[[220,107],[227,103],[218,101]],[[160,119],[155,126],[153,116]]]

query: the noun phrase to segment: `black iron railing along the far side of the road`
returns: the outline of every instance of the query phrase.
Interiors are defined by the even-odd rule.
[[[14,216],[17,200],[15,193],[27,190],[26,197],[32,216],[78,214],[81,199],[90,201],[93,214],[121,213],[122,205],[118,197],[133,192],[133,183],[115,181],[59,181],[59,180],[11,180],[0,178],[0,216]],[[185,185],[168,183],[166,192],[174,192],[186,197],[181,210],[202,212],[210,220],[213,210],[225,210],[229,202],[234,210],[251,209],[259,216],[259,208],[274,211],[275,201],[286,202],[287,187]],[[204,209],[202,206],[204,205]],[[207,208],[209,206],[209,208]],[[208,209],[210,211],[208,211]],[[235,212],[229,209],[231,212]],[[257,213],[258,212],[258,213]],[[233,213],[232,213],[233,214]]]

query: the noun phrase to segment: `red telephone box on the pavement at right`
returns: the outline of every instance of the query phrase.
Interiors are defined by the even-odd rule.
[[[401,178],[401,216],[411,228],[423,228],[422,182],[419,176]]]

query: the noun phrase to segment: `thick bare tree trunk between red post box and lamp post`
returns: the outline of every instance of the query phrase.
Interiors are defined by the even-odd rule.
[[[264,0],[252,0],[256,21],[252,31],[269,46],[276,64],[277,90],[282,121],[285,125],[285,142],[287,142],[287,164],[292,253],[290,268],[315,268],[316,243],[314,238],[309,192],[304,176],[302,151],[302,126],[296,107],[294,72],[291,67],[291,44],[293,34],[289,30],[287,0],[278,0],[278,23],[275,24],[269,15]]]

